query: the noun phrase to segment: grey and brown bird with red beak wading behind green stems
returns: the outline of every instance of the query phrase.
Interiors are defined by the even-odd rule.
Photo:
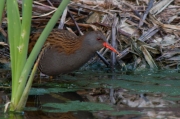
[[[32,35],[28,52],[31,51],[40,34],[36,32]],[[103,47],[118,53],[107,43],[101,31],[90,31],[77,36],[68,30],[54,29],[46,39],[38,69],[49,76],[70,73],[83,66]]]

